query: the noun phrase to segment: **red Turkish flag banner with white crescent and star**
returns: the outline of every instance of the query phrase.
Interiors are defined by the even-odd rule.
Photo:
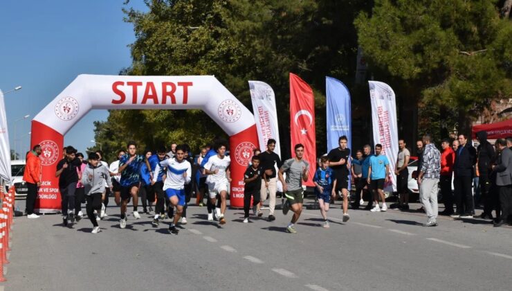
[[[291,152],[295,157],[295,145],[304,145],[304,159],[309,163],[308,181],[302,184],[314,186],[316,171],[315,98],[313,90],[299,76],[290,73],[290,134]]]

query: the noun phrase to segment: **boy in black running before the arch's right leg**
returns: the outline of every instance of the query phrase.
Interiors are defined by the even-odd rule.
[[[244,173],[244,223],[249,222],[250,197],[253,197],[253,213],[256,213],[262,188],[262,168],[259,167],[259,157],[255,155],[250,161],[250,166]]]

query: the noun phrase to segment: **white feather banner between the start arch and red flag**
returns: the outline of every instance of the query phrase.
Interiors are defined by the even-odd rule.
[[[277,109],[272,87],[265,82],[249,81],[250,98],[253,100],[254,119],[258,132],[259,148],[264,152],[268,139],[275,139],[274,152],[281,157]]]

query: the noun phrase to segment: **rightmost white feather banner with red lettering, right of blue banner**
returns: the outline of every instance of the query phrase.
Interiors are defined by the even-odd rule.
[[[369,82],[369,97],[372,102],[372,123],[374,143],[382,145],[381,155],[390,163],[390,180],[385,184],[385,191],[396,191],[394,170],[399,152],[399,134],[396,125],[396,103],[394,91],[383,82]]]

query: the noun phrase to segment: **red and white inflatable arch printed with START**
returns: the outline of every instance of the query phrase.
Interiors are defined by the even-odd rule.
[[[60,211],[55,171],[64,134],[91,109],[202,109],[230,136],[231,205],[244,206],[244,172],[258,144],[254,116],[214,76],[80,75],[32,121],[31,147],[42,146],[39,212]]]

